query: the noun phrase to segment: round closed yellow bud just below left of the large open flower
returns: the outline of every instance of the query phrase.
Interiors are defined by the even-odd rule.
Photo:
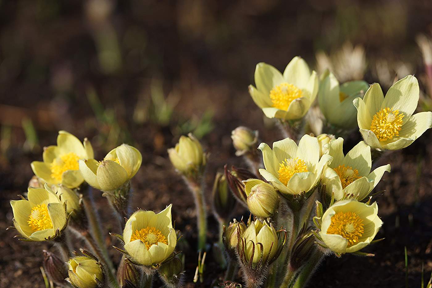
[[[270,184],[259,179],[243,181],[245,192],[248,195],[248,208],[257,217],[268,218],[275,213],[279,197]]]

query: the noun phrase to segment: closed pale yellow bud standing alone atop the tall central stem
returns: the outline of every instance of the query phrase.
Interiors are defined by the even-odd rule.
[[[169,160],[180,173],[193,175],[206,165],[206,154],[200,142],[191,133],[181,136],[174,148],[168,149]]]

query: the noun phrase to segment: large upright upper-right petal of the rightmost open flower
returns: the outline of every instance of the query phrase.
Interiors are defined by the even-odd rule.
[[[385,95],[384,102],[381,104],[381,109],[390,107],[394,110],[403,112],[403,123],[413,115],[419,102],[419,83],[413,75],[400,79]]]

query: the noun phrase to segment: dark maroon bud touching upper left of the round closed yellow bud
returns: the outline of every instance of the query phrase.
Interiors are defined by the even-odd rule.
[[[238,202],[240,202],[245,207],[247,205],[247,198],[245,192],[245,185],[241,183],[241,181],[257,178],[254,173],[249,172],[249,170],[243,168],[236,168],[231,166],[231,170],[228,170],[227,166],[224,166],[225,169],[225,178],[228,182],[229,189],[231,189],[232,194],[235,196]]]

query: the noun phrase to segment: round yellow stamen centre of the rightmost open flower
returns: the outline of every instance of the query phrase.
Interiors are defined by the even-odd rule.
[[[375,133],[379,141],[393,139],[394,136],[399,136],[403,116],[405,115],[399,113],[399,110],[388,107],[381,109],[372,119],[371,131]]]

